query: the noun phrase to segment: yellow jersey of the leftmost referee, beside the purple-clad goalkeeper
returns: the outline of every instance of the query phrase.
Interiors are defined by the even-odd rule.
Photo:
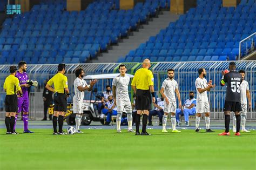
[[[4,89],[6,89],[7,95],[16,94],[16,91],[21,90],[21,86],[19,86],[19,79],[14,75],[6,77],[4,81]]]

